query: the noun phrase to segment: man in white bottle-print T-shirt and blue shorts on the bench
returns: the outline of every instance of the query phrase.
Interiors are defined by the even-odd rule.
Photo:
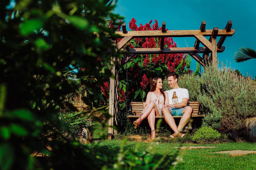
[[[170,137],[184,137],[184,133],[180,133],[188,120],[191,118],[193,108],[187,106],[189,100],[189,92],[185,88],[180,88],[178,85],[179,76],[176,73],[170,73],[168,76],[168,84],[172,90],[167,90],[169,97],[169,104],[164,105],[162,113],[164,120],[172,128],[174,134]],[[182,116],[177,127],[172,116]]]

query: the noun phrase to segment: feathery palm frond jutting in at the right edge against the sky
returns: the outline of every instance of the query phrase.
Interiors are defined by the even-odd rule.
[[[248,47],[241,47],[234,54],[234,60],[236,63],[240,63],[252,58],[256,58],[256,52],[252,48]]]

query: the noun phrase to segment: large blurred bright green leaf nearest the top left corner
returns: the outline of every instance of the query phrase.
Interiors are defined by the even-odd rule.
[[[27,36],[34,32],[34,30],[38,30],[43,26],[42,20],[27,20],[20,26],[20,33],[24,36]]]

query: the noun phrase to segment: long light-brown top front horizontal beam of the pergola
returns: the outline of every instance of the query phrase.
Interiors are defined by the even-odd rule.
[[[231,37],[235,33],[234,29],[231,29],[230,32],[227,32],[226,29],[219,29],[218,36],[227,36]],[[97,32],[94,32],[95,35],[98,35]],[[146,38],[146,37],[194,37],[194,35],[203,35],[211,36],[212,29],[206,29],[205,32],[201,30],[167,30],[166,33],[163,33],[162,30],[152,30],[152,31],[128,31],[123,33],[123,31],[115,31],[115,34],[120,37],[125,36],[134,36],[134,38]],[[110,36],[110,35],[109,35]]]

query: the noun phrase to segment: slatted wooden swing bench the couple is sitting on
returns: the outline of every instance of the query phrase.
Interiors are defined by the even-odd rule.
[[[131,102],[130,107],[130,115],[128,118],[139,118],[141,117],[141,112],[143,111],[143,102]],[[204,117],[204,115],[199,115],[199,103],[196,101],[191,101],[187,103],[187,106],[191,106],[193,108],[193,113],[191,117]],[[174,118],[181,118],[182,116],[173,116]],[[164,118],[164,116],[156,116],[156,118]]]

